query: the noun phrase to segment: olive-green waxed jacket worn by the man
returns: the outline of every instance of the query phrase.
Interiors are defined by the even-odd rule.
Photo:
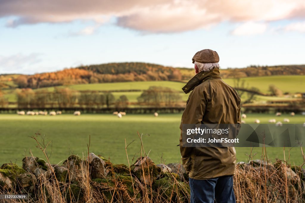
[[[198,180],[235,174],[233,147],[183,147],[182,124],[240,124],[240,97],[221,80],[219,69],[199,72],[182,88],[191,94],[181,118],[180,152],[189,177]]]

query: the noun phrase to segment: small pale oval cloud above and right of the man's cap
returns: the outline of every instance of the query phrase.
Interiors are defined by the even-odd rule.
[[[233,35],[256,35],[263,34],[267,29],[267,23],[246,22],[236,27],[231,34]]]

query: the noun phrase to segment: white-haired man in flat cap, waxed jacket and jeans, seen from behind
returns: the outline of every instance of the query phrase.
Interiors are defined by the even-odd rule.
[[[182,88],[191,94],[181,119],[180,152],[189,172],[191,202],[235,202],[233,147],[183,147],[182,124],[240,124],[240,97],[221,80],[217,52],[204,49],[192,58],[196,75]]]

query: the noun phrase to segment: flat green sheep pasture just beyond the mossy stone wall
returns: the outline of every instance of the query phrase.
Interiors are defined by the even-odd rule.
[[[282,115],[277,119],[283,119],[289,115]],[[274,115],[248,114],[246,122],[253,123],[254,119],[260,119],[261,123],[267,123]],[[290,123],[304,123],[305,116],[296,115],[290,117]],[[90,151],[105,157],[110,157],[115,163],[127,163],[125,154],[125,141],[132,142],[128,148],[129,158],[140,156],[140,140],[137,131],[143,134],[143,144],[146,153],[156,163],[161,162],[161,157],[166,163],[179,162],[179,124],[181,114],[153,115],[127,115],[118,119],[113,115],[83,114],[81,116],[18,116],[0,114],[0,165],[5,162],[16,162],[21,165],[23,156],[32,151],[34,156],[43,157],[35,147],[35,141],[29,136],[35,136],[40,132],[45,135],[46,141],[52,141],[48,147],[51,162],[58,163],[66,159],[70,154],[80,156],[86,154],[89,135],[91,135]],[[149,135],[147,135],[149,134]],[[38,136],[39,137],[39,136]],[[254,159],[259,159],[262,148],[255,148]],[[292,164],[303,163],[300,148],[286,148],[286,159],[289,157]],[[246,161],[250,148],[236,148],[238,161]],[[283,148],[267,148],[268,158],[284,159]]]

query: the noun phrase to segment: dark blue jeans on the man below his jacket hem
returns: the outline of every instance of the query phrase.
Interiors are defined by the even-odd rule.
[[[191,203],[235,203],[233,176],[220,176],[207,180],[189,178]]]

